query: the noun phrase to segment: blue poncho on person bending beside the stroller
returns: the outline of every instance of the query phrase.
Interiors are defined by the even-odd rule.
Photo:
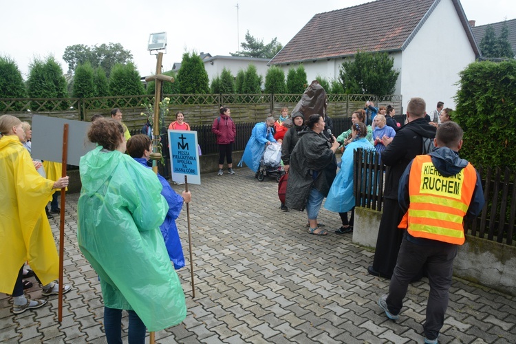
[[[259,122],[252,128],[251,137],[246,144],[244,155],[242,155],[238,166],[241,167],[242,162],[245,162],[253,172],[257,172],[260,167],[261,155],[264,155],[267,141],[276,142],[267,123]]]

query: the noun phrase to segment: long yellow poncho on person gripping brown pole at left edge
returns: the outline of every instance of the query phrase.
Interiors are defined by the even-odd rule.
[[[17,136],[0,138],[0,292],[12,293],[25,261],[43,285],[58,277],[56,243],[45,215],[53,185],[34,169]]]

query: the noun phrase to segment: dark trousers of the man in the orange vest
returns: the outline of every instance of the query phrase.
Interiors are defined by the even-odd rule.
[[[423,264],[427,263],[430,293],[427,302],[427,320],[424,322],[424,335],[435,339],[444,323],[444,313],[448,308],[453,259],[458,252],[458,245],[440,243],[436,246],[414,244],[403,238],[396,268],[392,274],[387,297],[387,307],[392,314],[398,314],[403,306],[403,299],[413,277],[418,275]]]

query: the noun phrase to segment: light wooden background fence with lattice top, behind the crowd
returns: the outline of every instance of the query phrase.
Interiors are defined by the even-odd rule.
[[[281,107],[293,109],[302,94],[168,94],[170,98],[168,125],[175,113],[182,111],[186,122],[210,125],[219,116],[219,107],[228,106],[235,122],[260,122],[269,114],[279,114]],[[10,114],[21,120],[32,121],[32,115],[44,115],[74,120],[89,120],[93,115],[109,116],[111,109],[122,110],[123,121],[129,130],[140,129],[146,117],[142,104],[151,103],[153,96],[116,96],[98,98],[0,98],[0,114]],[[402,114],[402,96],[376,97],[367,94],[328,94],[327,114],[332,118],[350,116],[364,107],[366,100],[375,104],[391,105]]]

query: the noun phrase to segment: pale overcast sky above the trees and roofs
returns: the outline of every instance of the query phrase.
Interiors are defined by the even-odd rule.
[[[17,62],[26,79],[34,56],[53,54],[63,72],[68,45],[120,43],[133,54],[142,76],[154,74],[155,56],[147,52],[151,32],[165,31],[165,70],[186,51],[229,55],[240,50],[246,31],[269,43],[286,45],[316,13],[365,3],[363,0],[1,0],[0,55]],[[237,3],[239,10],[237,11]],[[462,0],[476,25],[516,19],[515,0]],[[238,16],[237,16],[238,14]],[[238,18],[238,20],[237,20]],[[378,24],[384,19],[378,18]],[[446,25],[446,23],[443,23]]]

